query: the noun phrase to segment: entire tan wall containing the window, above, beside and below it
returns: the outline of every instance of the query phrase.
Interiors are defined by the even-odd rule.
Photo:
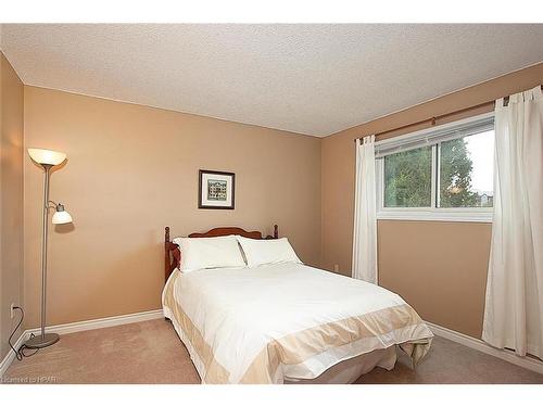
[[[323,266],[351,274],[356,137],[478,105],[543,82],[543,64],[457,91],[340,131],[323,140]],[[393,97],[393,96],[391,96]],[[481,109],[477,113],[483,113]],[[457,115],[450,119],[464,117]],[[402,131],[411,132],[424,126]],[[387,135],[397,136],[400,132]],[[480,336],[491,226],[468,222],[380,221],[380,283],[435,323]],[[455,253],[455,257],[452,257]],[[462,255],[457,255],[460,253]]]

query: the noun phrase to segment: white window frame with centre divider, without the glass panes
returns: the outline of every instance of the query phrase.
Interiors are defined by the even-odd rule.
[[[415,137],[420,138],[434,131],[446,130],[458,125],[469,126],[470,123],[481,118],[493,117],[494,112],[477,115],[462,120],[455,120],[442,126],[415,131],[408,135],[394,138],[394,142],[400,140],[408,142]],[[475,221],[492,222],[493,207],[439,207],[440,200],[440,151],[443,139],[432,142],[432,168],[431,168],[431,200],[430,207],[386,207],[384,201],[384,156],[376,158],[376,194],[377,194],[377,219],[378,220],[438,220],[438,221]],[[383,145],[390,140],[377,142],[376,145]],[[424,145],[421,145],[424,147]]]

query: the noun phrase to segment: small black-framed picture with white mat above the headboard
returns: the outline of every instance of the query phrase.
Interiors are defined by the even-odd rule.
[[[200,169],[198,207],[200,209],[233,209],[236,174]]]

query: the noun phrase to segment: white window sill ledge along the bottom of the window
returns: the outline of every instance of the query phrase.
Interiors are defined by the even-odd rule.
[[[462,211],[381,211],[377,220],[472,221],[492,224],[492,212]]]

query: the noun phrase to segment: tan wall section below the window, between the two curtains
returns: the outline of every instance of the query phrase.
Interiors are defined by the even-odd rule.
[[[378,222],[379,283],[426,320],[480,338],[490,224]]]

